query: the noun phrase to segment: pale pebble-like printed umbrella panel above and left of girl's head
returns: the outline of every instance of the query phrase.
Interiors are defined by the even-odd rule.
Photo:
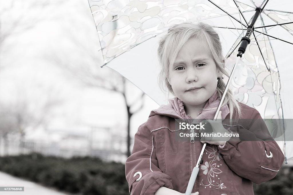
[[[100,39],[105,64],[138,44],[163,32],[173,24],[226,16],[212,4],[202,1],[104,1],[88,0]],[[238,14],[225,1],[219,6]],[[239,4],[243,11],[254,9]],[[237,24],[238,25],[238,24]],[[240,25],[238,27],[241,29]]]

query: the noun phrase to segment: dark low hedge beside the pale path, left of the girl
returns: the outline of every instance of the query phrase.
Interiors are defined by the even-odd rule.
[[[38,153],[4,156],[0,170],[69,193],[129,194],[124,165],[99,158],[64,159]]]

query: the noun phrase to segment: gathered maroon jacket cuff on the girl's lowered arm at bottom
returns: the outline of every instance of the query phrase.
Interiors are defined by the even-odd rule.
[[[163,172],[154,171],[144,175],[141,180],[135,181],[134,177],[129,182],[131,195],[154,195],[160,187],[173,189],[171,177]]]

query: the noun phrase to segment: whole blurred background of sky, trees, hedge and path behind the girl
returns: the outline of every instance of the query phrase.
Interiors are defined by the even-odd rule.
[[[0,186],[128,194],[134,134],[159,105],[101,65],[87,0],[1,0]],[[289,162],[255,194],[290,193],[292,181]]]

